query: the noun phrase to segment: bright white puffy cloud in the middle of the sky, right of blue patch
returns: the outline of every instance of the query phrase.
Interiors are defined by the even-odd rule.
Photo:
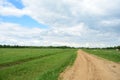
[[[88,28],[84,23],[80,23],[76,26],[71,26],[71,27],[54,27],[52,28],[52,32],[51,34],[57,34],[57,35],[68,35],[68,36],[82,36],[82,34],[87,33]]]

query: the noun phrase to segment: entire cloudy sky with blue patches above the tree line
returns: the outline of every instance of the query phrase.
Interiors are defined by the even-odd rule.
[[[0,0],[0,44],[120,45],[120,0]]]

